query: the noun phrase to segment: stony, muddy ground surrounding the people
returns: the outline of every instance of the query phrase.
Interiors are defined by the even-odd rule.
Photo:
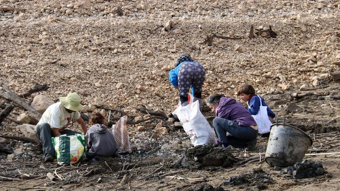
[[[311,135],[314,144],[308,154],[339,152],[340,85],[332,79],[332,72],[340,70],[339,15],[337,0],[0,0],[0,81],[16,94],[35,83],[50,86],[48,91],[26,98],[27,103],[38,94],[57,101],[74,91],[82,96],[84,105],[99,98],[104,108],[131,116],[145,115],[136,110],[140,105],[170,113],[178,96],[167,74],[179,55],[190,53],[206,69],[204,98],[224,93],[240,101],[236,88],[252,83],[278,117]],[[172,25],[165,30],[169,20]],[[271,25],[278,36],[269,38],[265,33],[249,39],[251,25],[261,30]],[[207,35],[242,39],[214,38],[209,46],[203,43]],[[7,104],[0,99],[1,106]],[[14,121],[23,112],[16,107],[1,122],[0,134],[22,136]],[[214,118],[206,107],[203,115],[210,123]],[[168,134],[156,132],[160,121]],[[137,126],[145,129],[138,131]],[[77,129],[75,125],[70,128]],[[306,156],[320,161],[332,176],[296,180],[263,161],[183,167],[180,159],[191,147],[190,139],[172,120],[129,125],[129,133],[132,153],[104,158],[107,164],[97,161],[74,166],[42,163],[36,145],[8,140],[6,146],[23,148],[26,153],[12,160],[0,153],[1,188],[337,190],[340,186],[339,154]],[[168,143],[173,146],[165,147]],[[259,138],[253,152],[233,149],[219,156],[231,153],[234,159],[243,160],[262,153],[263,160],[266,144],[267,139]],[[230,177],[253,173],[259,167],[273,183],[224,184]],[[21,180],[23,174],[43,176],[55,169],[62,180]]]

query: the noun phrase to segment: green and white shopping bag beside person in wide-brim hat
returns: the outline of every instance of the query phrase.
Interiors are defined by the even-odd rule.
[[[84,156],[85,137],[83,134],[52,137],[52,144],[58,164],[75,164]]]

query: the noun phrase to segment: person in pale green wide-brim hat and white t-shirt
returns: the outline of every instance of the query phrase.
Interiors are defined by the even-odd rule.
[[[79,113],[83,108],[80,96],[77,93],[69,93],[66,97],[60,97],[59,101],[49,106],[35,127],[37,137],[43,145],[45,162],[53,161],[55,157],[51,137],[77,133],[65,129],[71,121],[76,120],[83,133],[87,132],[85,122]]]

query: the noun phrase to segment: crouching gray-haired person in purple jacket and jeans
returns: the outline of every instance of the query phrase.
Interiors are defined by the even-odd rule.
[[[216,114],[213,120],[217,145],[229,145],[253,150],[256,145],[258,127],[254,118],[241,103],[221,94],[210,95],[206,104]]]

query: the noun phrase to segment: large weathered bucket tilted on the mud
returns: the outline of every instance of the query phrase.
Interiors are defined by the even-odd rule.
[[[278,119],[283,122],[278,123]],[[301,129],[285,124],[284,118],[278,119],[271,125],[265,160],[271,166],[293,166],[302,161],[313,141]]]

